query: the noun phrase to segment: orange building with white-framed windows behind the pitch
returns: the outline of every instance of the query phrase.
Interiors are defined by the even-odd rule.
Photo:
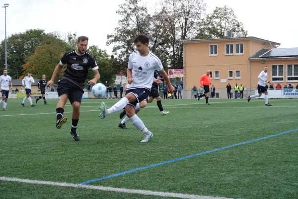
[[[280,52],[274,50],[280,43],[257,37],[181,42],[183,43],[184,89],[192,89],[194,85],[199,87],[199,80],[207,70],[211,71],[211,83],[217,89],[225,89],[227,83],[232,87],[237,83],[243,84],[246,89],[253,89],[257,87],[258,75],[264,66],[269,68],[267,80],[272,81],[274,87],[277,83],[285,85],[297,82],[298,84],[298,53],[293,54],[292,51],[291,55],[280,56],[278,54]],[[298,48],[295,50],[298,51]],[[283,51],[285,55],[287,50]]]

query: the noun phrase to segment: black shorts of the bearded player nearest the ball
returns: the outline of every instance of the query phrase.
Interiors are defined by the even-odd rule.
[[[79,103],[82,101],[84,91],[78,88],[72,82],[66,79],[62,79],[58,82],[57,93],[59,97],[63,94],[66,94],[72,104],[74,101],[77,101]]]

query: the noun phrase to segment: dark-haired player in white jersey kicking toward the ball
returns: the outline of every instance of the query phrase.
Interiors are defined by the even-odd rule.
[[[171,85],[167,73],[162,67],[161,61],[149,51],[148,36],[144,34],[139,35],[134,40],[134,43],[138,52],[134,52],[129,56],[127,68],[127,94],[109,109],[107,109],[104,102],[101,102],[100,117],[103,119],[107,115],[122,110],[125,107],[126,115],[130,118],[133,125],[144,133],[144,139],[141,142],[148,142],[153,134],[135,114],[135,107],[138,102],[148,98],[154,79],[153,74],[155,69],[162,75],[165,82],[169,85],[168,88],[171,92],[174,92],[175,88]]]

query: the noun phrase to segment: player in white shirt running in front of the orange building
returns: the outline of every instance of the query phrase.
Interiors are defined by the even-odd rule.
[[[262,71],[259,75],[259,83],[258,83],[258,94],[255,94],[253,96],[248,96],[247,101],[249,102],[252,98],[261,97],[262,94],[265,94],[265,105],[271,106],[270,103],[268,103],[268,91],[266,88],[266,83],[270,83],[270,81],[267,81],[267,71],[268,67],[264,67],[264,71]]]

